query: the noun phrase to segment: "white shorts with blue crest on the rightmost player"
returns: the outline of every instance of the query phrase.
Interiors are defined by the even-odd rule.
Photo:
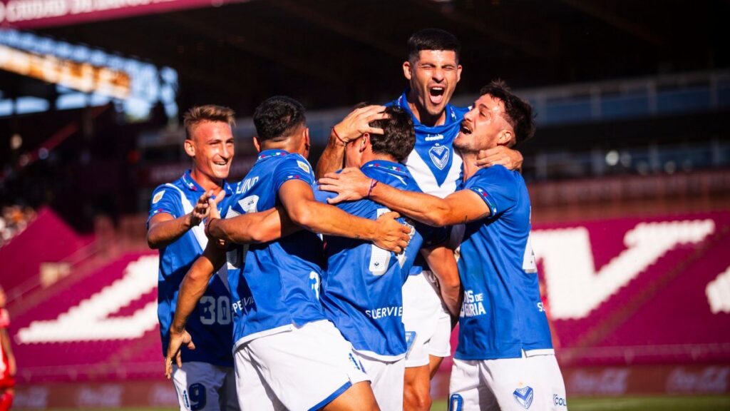
[[[454,359],[449,411],[566,411],[555,355],[464,361]]]

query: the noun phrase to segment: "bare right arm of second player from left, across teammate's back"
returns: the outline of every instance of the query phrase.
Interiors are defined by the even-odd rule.
[[[382,249],[401,252],[410,239],[410,228],[399,223],[397,213],[386,213],[377,221],[347,214],[315,200],[312,186],[292,179],[282,184],[279,199],[291,221],[313,233],[372,241]]]

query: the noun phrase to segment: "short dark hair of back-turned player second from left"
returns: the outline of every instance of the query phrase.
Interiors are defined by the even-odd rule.
[[[306,123],[304,106],[291,97],[269,97],[253,112],[253,125],[259,141],[283,140],[296,127]]]

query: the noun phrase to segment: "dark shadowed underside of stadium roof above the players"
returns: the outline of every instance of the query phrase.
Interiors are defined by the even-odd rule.
[[[492,78],[525,88],[730,65],[721,34],[728,30],[727,1],[212,4],[218,7],[35,31],[172,67],[179,73],[180,108],[215,102],[242,116],[273,94],[291,95],[308,108],[392,99],[404,88],[407,38],[427,27],[461,39],[461,94]],[[6,81],[0,76],[0,86]]]

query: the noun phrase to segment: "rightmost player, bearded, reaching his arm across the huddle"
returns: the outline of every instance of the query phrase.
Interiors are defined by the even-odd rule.
[[[534,134],[530,105],[502,82],[483,88],[454,146],[464,158],[464,188],[444,199],[404,192],[356,168],[328,174],[321,189],[339,200],[365,195],[429,225],[460,225],[463,304],[451,372],[450,410],[565,410],[563,377],[539,295],[529,243],[530,199],[516,171],[480,169],[479,151],[514,146]],[[457,230],[457,228],[459,228]]]

